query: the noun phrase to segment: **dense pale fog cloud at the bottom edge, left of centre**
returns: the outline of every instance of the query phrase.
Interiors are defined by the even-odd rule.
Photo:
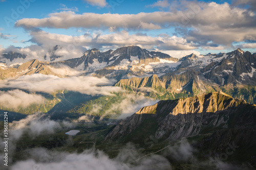
[[[168,160],[160,155],[148,156],[141,159],[139,163],[125,164],[129,160],[134,160],[140,153],[136,152],[136,148],[124,148],[119,155],[110,159],[101,151],[84,151],[81,154],[51,152],[46,149],[30,150],[31,159],[16,162],[12,166],[12,170],[31,169],[33,167],[39,169],[86,169],[88,170],[106,170],[106,169],[131,169],[131,170],[153,170],[155,167],[160,169],[170,169]]]

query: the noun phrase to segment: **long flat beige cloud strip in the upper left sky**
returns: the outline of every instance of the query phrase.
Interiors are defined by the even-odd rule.
[[[172,18],[174,17],[174,18]],[[177,19],[172,12],[153,12],[138,14],[76,14],[71,11],[52,13],[48,18],[24,18],[16,22],[17,27],[24,28],[127,28],[138,29],[141,22],[162,25]],[[97,22],[95,22],[97,20]],[[86,22],[84,22],[86,21]]]

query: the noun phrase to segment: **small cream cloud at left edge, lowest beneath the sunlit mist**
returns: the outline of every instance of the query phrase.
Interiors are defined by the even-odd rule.
[[[45,98],[39,94],[29,94],[15,89],[7,92],[0,91],[0,103],[3,107],[28,107],[31,104],[43,104]]]

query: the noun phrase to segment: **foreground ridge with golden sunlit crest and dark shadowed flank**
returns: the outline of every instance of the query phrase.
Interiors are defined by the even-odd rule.
[[[129,136],[126,141],[143,141],[149,137],[144,130],[150,131],[148,134],[159,140],[176,140],[200,133],[212,133],[220,128],[254,126],[255,122],[255,105],[233,99],[222,92],[212,92],[186,99],[160,101],[153,106],[143,107],[121,120],[106,139]]]

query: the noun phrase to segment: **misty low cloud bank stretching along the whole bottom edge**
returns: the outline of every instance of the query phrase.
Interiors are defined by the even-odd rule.
[[[68,143],[67,143],[68,144]],[[156,143],[155,143],[156,144]],[[154,145],[154,144],[153,144]],[[142,149],[143,150],[143,149]],[[45,148],[34,148],[26,150],[28,159],[16,162],[11,169],[86,169],[88,170],[153,170],[172,169],[172,163],[191,165],[190,168],[212,168],[212,169],[241,169],[242,167],[224,162],[220,159],[209,157],[198,160],[195,156],[196,150],[187,140],[171,145],[163,150],[161,155],[141,153],[135,145],[127,143],[119,149],[115,158],[110,158],[104,152],[92,148],[83,153],[68,153],[58,149],[47,150]],[[166,159],[168,157],[169,160]],[[248,169],[246,166],[243,169]]]

